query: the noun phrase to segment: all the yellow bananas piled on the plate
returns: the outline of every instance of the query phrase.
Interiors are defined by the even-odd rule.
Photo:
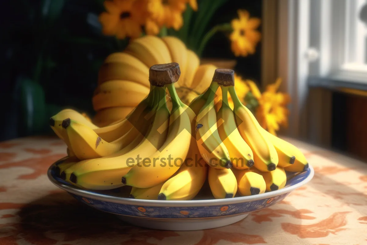
[[[283,188],[286,170],[308,168],[299,149],[262,129],[241,104],[233,70],[216,69],[210,86],[189,106],[176,91],[180,75],[178,63],[151,66],[148,96],[109,126],[98,127],[70,109],[53,116],[51,128],[68,147],[54,171],[82,189],[127,185],[131,198],[191,200],[206,181],[217,199],[235,197],[237,190],[256,195]],[[217,112],[219,87],[223,100]]]

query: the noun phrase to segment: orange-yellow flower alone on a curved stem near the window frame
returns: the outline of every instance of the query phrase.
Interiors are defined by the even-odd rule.
[[[230,35],[231,49],[236,56],[247,56],[255,53],[256,44],[261,39],[261,34],[256,29],[261,20],[250,18],[246,10],[238,10],[239,19],[232,20],[233,32]]]

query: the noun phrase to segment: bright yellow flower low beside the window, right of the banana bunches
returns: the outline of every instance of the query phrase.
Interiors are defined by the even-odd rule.
[[[266,86],[265,92],[258,98],[259,106],[256,110],[260,125],[274,135],[279,125],[288,126],[289,111],[286,106],[291,101],[288,94],[277,92],[280,83],[281,79],[278,78],[275,83]]]

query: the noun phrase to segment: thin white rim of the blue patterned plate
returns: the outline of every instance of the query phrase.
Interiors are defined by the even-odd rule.
[[[57,181],[54,176],[52,176],[52,165],[47,171],[48,179],[57,187],[70,192],[75,195],[79,195],[86,198],[92,198],[99,201],[105,202],[113,202],[119,204],[128,204],[128,205],[141,205],[141,206],[158,206],[158,207],[190,207],[190,206],[213,206],[213,205],[228,205],[234,203],[242,203],[242,202],[250,202],[257,201],[260,199],[272,198],[277,195],[281,195],[287,192],[294,191],[295,189],[301,187],[302,185],[307,184],[315,174],[313,167],[309,165],[309,168],[305,171],[308,172],[308,176],[299,183],[294,185],[284,187],[280,190],[265,192],[262,194],[257,194],[253,196],[247,197],[234,197],[234,198],[226,198],[226,199],[207,199],[207,200],[190,200],[190,201],[160,201],[160,200],[142,200],[142,199],[132,199],[132,198],[124,198],[124,197],[114,197],[110,195],[100,194],[88,190],[80,190],[73,186],[65,185]],[[305,173],[302,172],[302,173]],[[297,177],[294,176],[294,177]]]

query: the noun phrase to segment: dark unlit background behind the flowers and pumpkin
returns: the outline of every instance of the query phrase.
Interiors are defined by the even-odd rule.
[[[261,3],[227,0],[206,30],[237,18],[238,9],[261,18]],[[198,4],[200,11],[200,0]],[[52,135],[48,118],[63,108],[93,116],[98,69],[104,58],[119,50],[115,38],[101,34],[98,15],[103,1],[14,0],[1,1],[0,6],[0,141]],[[202,58],[236,59],[239,75],[258,83],[261,79],[261,43],[255,55],[236,58],[228,36],[217,33]]]

